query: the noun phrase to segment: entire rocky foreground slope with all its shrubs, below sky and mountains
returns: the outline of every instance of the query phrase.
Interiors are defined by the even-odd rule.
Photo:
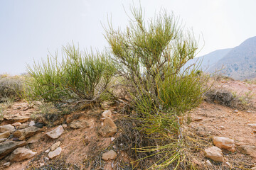
[[[0,76],[1,169],[256,169],[255,80],[184,69],[193,33],[131,10],[108,51],[72,43]]]

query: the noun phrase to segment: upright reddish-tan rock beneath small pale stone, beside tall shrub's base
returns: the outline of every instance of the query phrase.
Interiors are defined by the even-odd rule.
[[[105,118],[102,128],[99,133],[102,137],[112,137],[117,132],[117,126],[111,118]]]

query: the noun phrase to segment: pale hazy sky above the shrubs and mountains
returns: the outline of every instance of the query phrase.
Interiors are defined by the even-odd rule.
[[[0,74],[26,72],[26,64],[68,42],[102,50],[107,15],[124,28],[132,0],[0,0]],[[134,0],[134,4],[139,1]],[[198,54],[235,47],[256,35],[255,0],[141,0],[146,16],[161,7],[179,16],[200,37]],[[110,18],[110,17],[109,17]],[[203,36],[202,36],[203,35]],[[204,40],[204,41],[203,41]]]

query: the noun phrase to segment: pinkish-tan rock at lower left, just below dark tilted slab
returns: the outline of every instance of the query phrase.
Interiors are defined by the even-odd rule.
[[[31,149],[26,149],[25,147],[18,147],[11,153],[9,160],[11,162],[21,162],[26,159],[34,157],[37,152],[31,151]]]

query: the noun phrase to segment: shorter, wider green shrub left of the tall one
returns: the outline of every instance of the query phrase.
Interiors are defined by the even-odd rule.
[[[96,101],[107,89],[114,66],[107,53],[80,51],[74,45],[63,47],[61,62],[48,57],[47,62],[28,67],[31,75],[30,96],[44,101]]]

